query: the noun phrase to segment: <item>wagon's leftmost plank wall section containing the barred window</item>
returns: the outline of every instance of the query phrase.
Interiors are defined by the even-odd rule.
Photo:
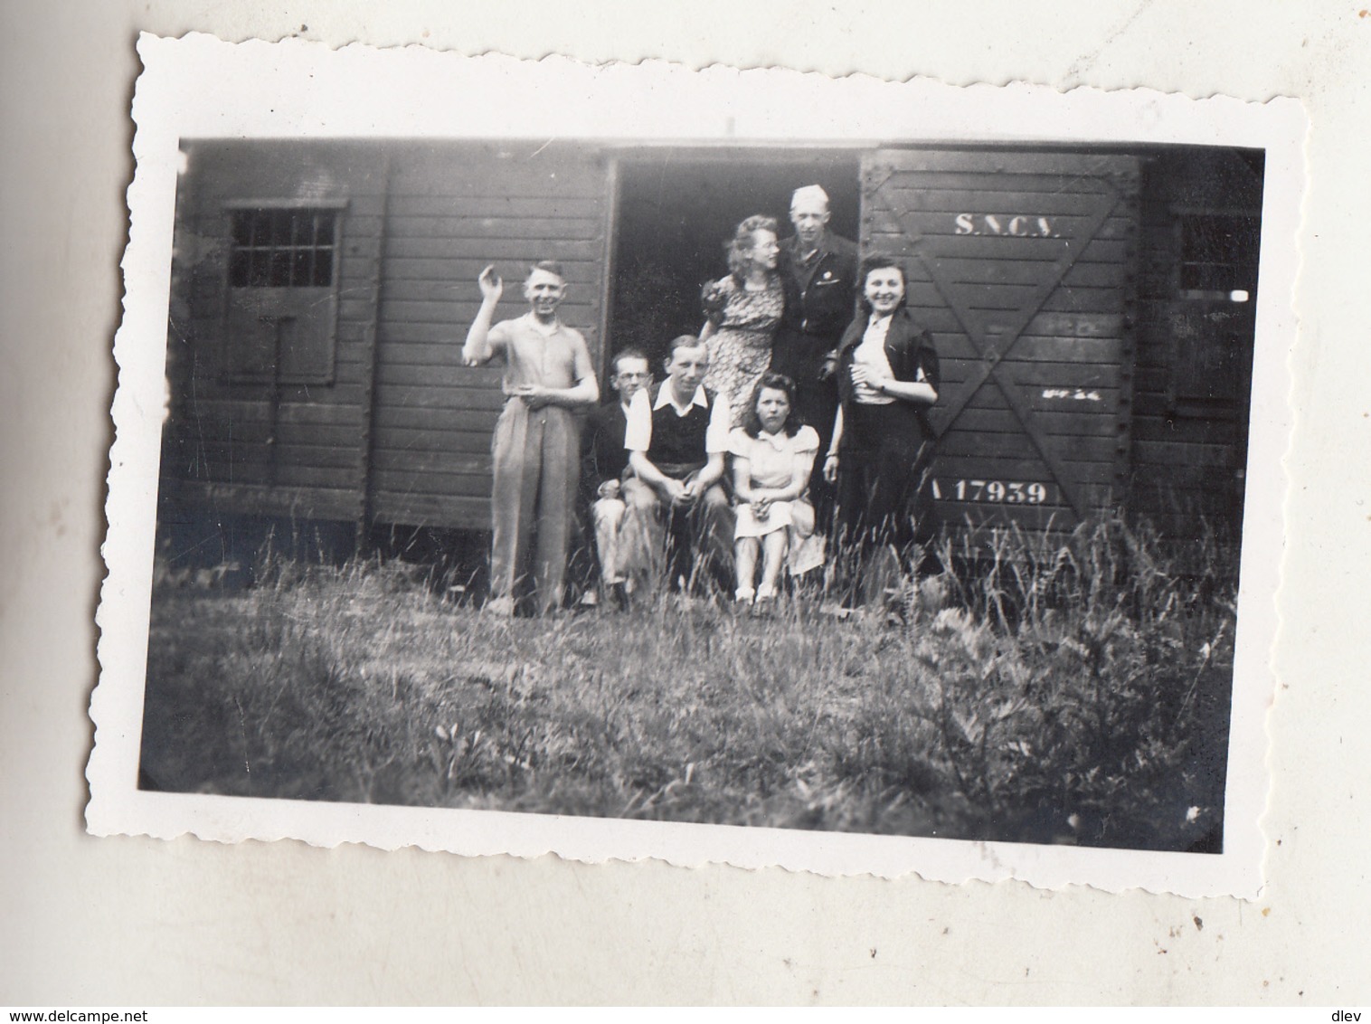
[[[163,495],[223,514],[356,520],[378,152],[207,140],[185,154]],[[311,223],[324,228],[303,239]]]

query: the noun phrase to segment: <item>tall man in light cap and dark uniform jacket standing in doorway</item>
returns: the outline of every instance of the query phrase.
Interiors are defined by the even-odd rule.
[[[818,432],[827,451],[838,411],[834,365],[838,341],[853,319],[857,245],[828,230],[828,193],[818,185],[797,189],[790,202],[795,234],[780,244],[787,308],[772,348],[771,369],[795,381],[795,409]],[[814,466],[810,498],[820,529],[832,515],[832,487]]]

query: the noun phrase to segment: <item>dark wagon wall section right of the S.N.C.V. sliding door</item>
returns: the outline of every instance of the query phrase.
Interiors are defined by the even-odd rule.
[[[1146,163],[1130,509],[1168,536],[1242,525],[1260,215],[1260,154]]]

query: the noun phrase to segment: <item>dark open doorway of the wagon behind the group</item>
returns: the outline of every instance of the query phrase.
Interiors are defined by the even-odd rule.
[[[831,232],[857,237],[860,155],[843,149],[664,148],[616,160],[606,354],[642,348],[661,366],[666,343],[705,322],[701,288],[728,271],[724,245],[740,221],[775,217],[790,226],[791,193],[821,185],[829,196]]]

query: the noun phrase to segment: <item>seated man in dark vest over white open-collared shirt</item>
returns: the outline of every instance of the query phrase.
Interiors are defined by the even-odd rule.
[[[628,513],[621,543],[632,569],[654,580],[665,557],[673,589],[703,578],[698,568],[705,561],[725,577],[717,583],[731,587],[733,511],[721,481],[732,418],[728,400],[705,388],[706,370],[703,341],[673,339],[668,378],[633,395],[624,428],[633,476],[622,488]]]

